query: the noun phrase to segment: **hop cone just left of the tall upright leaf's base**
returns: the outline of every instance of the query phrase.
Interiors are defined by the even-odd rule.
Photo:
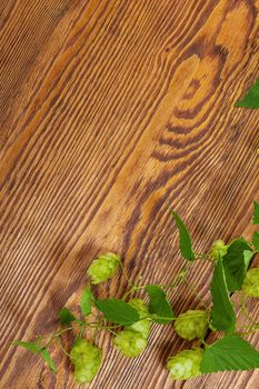
[[[188,310],[178,316],[175,330],[179,337],[188,340],[202,338],[208,326],[209,313],[205,310]]]

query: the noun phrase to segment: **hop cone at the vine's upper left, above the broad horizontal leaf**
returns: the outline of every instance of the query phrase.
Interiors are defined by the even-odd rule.
[[[91,283],[98,285],[113,277],[119,268],[121,257],[113,252],[99,256],[88,269]]]

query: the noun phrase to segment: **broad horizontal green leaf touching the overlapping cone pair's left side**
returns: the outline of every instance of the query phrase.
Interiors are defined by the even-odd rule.
[[[96,300],[97,308],[106,319],[120,326],[131,326],[139,321],[138,311],[128,302],[118,299]]]

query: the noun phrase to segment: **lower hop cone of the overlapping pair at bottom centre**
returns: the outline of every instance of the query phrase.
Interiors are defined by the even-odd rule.
[[[138,357],[147,347],[148,340],[139,332],[124,329],[113,339],[114,346],[126,357]]]

